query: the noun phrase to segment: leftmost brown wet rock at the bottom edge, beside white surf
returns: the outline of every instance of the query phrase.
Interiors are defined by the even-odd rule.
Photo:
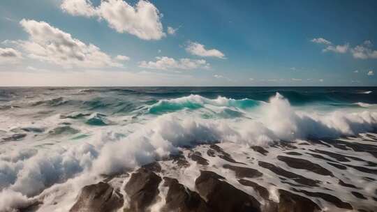
[[[117,211],[123,206],[124,199],[120,192],[114,191],[108,183],[100,182],[87,185],[73,205],[70,212],[108,212]]]

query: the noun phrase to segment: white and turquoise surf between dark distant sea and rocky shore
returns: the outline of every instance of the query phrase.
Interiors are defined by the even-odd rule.
[[[112,112],[88,114],[87,108],[81,116],[69,104],[57,106],[55,102],[56,98],[53,104],[49,100],[38,107],[63,110],[38,119],[30,115],[35,108],[29,107],[1,114],[3,137],[17,130],[24,132],[22,128],[38,127],[43,131],[31,130],[22,140],[0,144],[0,211],[11,211],[41,196],[45,202],[50,198],[50,202],[58,201],[59,207],[64,204],[69,208],[72,196],[103,174],[117,174],[166,158],[182,146],[213,142],[267,145],[278,140],[357,135],[377,127],[377,112],[365,105],[362,107],[367,110],[309,112],[292,107],[279,93],[267,102],[199,95],[161,99],[153,105],[140,106],[147,108],[144,114],[139,108],[137,115],[131,112],[129,116]],[[90,109],[104,107],[98,102],[90,103]],[[227,117],[221,114],[224,111]],[[203,114],[211,114],[212,118]],[[74,129],[75,133],[57,130],[63,128]],[[73,139],[77,135],[78,139]],[[191,172],[198,174],[194,169]],[[47,209],[52,210],[51,206]]]

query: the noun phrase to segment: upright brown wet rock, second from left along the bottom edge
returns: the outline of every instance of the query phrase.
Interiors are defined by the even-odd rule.
[[[161,177],[148,169],[140,168],[131,175],[124,190],[130,198],[130,211],[145,211],[158,195]]]

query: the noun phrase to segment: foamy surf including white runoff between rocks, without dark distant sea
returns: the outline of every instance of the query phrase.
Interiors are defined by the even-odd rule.
[[[376,158],[372,154],[375,137],[370,132],[376,130],[377,113],[370,107],[313,111],[313,107],[291,105],[280,93],[271,94],[267,100],[187,95],[154,99],[150,104],[150,94],[136,100],[140,96],[124,96],[124,93],[118,96],[117,92],[92,91],[90,95],[72,96],[71,90],[62,91],[58,102],[64,104],[58,105],[51,98],[34,106],[30,102],[39,100],[15,98],[7,103],[18,107],[1,111],[0,211],[30,206],[36,206],[38,211],[69,211],[84,185],[98,183],[108,176],[117,176],[111,178],[113,184],[110,184],[125,196],[123,187],[130,174],[155,161],[165,172],[161,176],[174,177],[192,191],[200,192],[193,180],[198,179],[200,170],[207,169],[225,177],[228,183],[261,204],[279,202],[282,194],[279,190],[283,189],[300,193],[320,209],[331,211],[345,209],[337,204],[350,208],[339,202],[349,202],[352,209],[362,209],[363,205],[371,209],[369,206],[373,205],[376,186],[367,179],[376,177]],[[350,136],[356,138],[336,140]],[[284,146],[285,142],[293,143]],[[223,151],[211,147],[212,144]],[[208,155],[207,151],[213,148],[215,153]],[[198,165],[198,157],[191,156],[195,151],[200,152],[208,165]],[[335,152],[340,156],[331,154]],[[181,153],[184,158],[171,158]],[[294,159],[278,156],[309,160],[332,174],[321,176],[297,169],[292,167],[294,162],[288,161]],[[257,182],[276,192],[269,192],[266,199],[242,184],[250,179],[233,173],[239,169],[232,167],[233,160],[237,166],[241,162],[242,167],[258,170],[262,175]],[[186,165],[182,167],[179,161]],[[297,176],[290,179],[290,174],[283,174],[280,177],[286,180],[281,180],[279,175],[284,172],[269,164],[288,171],[294,169],[296,174],[309,179],[310,186],[318,185],[316,190],[321,193],[344,198],[334,207],[334,202],[329,203],[323,195],[300,191],[300,184],[306,180],[297,182]],[[352,183],[357,184],[357,189],[337,188],[337,181],[350,179],[355,180]],[[320,182],[314,183],[316,180]],[[327,181],[332,186],[331,192],[325,190],[323,183]],[[368,189],[362,189],[367,186]],[[162,199],[167,195],[164,189],[168,188],[158,187]],[[367,199],[360,200],[352,192]],[[357,204],[358,201],[362,204]],[[127,204],[125,200],[119,210]],[[163,205],[151,207],[158,211]]]

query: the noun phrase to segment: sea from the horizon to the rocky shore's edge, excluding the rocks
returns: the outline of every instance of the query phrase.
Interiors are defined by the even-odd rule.
[[[45,211],[69,209],[103,174],[198,143],[246,148],[376,129],[376,88],[2,88],[0,211],[36,197]]]

